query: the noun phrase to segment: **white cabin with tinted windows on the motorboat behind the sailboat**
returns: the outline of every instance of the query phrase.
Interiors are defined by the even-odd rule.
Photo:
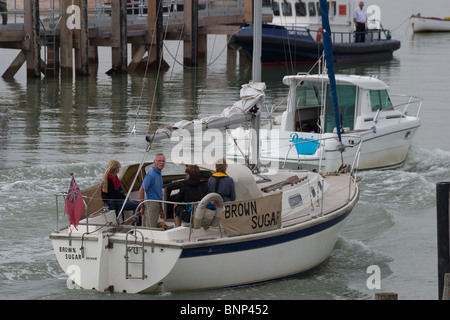
[[[286,76],[283,83],[290,86],[290,93],[281,130],[320,133],[321,106],[325,105],[324,132],[336,132],[327,75]],[[369,129],[380,111],[394,112],[387,90],[388,86],[374,77],[336,75],[339,117],[344,131]]]

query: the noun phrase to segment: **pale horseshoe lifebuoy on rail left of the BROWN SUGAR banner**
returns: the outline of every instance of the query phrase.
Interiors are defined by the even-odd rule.
[[[214,206],[210,203],[213,202]],[[217,227],[222,218],[223,199],[218,193],[208,193],[198,204],[194,212],[194,229]]]

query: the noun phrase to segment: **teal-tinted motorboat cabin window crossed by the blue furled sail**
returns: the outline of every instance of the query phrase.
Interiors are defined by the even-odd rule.
[[[354,129],[355,124],[355,101],[356,87],[348,85],[338,85],[336,87],[339,106],[339,120],[344,128]],[[334,118],[333,100],[331,98],[330,87],[327,88],[327,106],[325,108],[325,132],[333,132],[336,127]]]

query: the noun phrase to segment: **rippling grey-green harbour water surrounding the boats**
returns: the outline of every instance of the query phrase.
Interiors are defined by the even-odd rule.
[[[327,262],[305,276],[258,286],[134,298],[373,299],[379,291],[397,292],[399,299],[437,298],[435,189],[437,182],[450,181],[450,34],[413,36],[405,21],[417,12],[448,15],[450,5],[376,4],[402,48],[388,61],[338,65],[337,72],[376,75],[391,93],[423,97],[422,127],[403,168],[361,173],[360,201]],[[144,136],[155,126],[209,115],[239,100],[251,66],[226,58],[224,37],[208,40],[208,68],[183,70],[166,54],[171,69],[158,80],[154,73],[145,79],[105,75],[107,49],[101,49],[106,57],[98,70],[85,79],[33,80],[21,70],[14,80],[0,80],[0,299],[129,298],[67,288],[48,238],[56,227],[53,194],[67,189],[69,172],[86,187],[99,181],[111,158],[140,161]],[[176,42],[166,45],[176,52]],[[4,72],[17,52],[1,53]],[[281,66],[263,69],[269,106],[283,100],[281,79],[290,72]],[[135,123],[137,133],[130,135]],[[158,143],[153,149],[169,153],[170,146]],[[367,287],[370,265],[381,270],[380,290]]]

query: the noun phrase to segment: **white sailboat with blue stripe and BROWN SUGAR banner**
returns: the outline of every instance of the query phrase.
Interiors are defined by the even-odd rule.
[[[255,8],[256,17],[260,10]],[[244,86],[237,103],[248,107],[242,117],[255,124],[264,88],[259,82]],[[232,108],[225,113],[227,117],[209,118],[202,126],[242,121]],[[184,130],[193,127],[190,123]],[[165,131],[148,140],[175,132]],[[242,164],[229,165],[236,201],[223,203],[217,194],[208,194],[193,204],[192,223],[181,227],[170,228],[170,220],[165,221],[169,229],[120,224],[114,210],[102,208],[98,186],[85,190],[88,217],[77,229],[58,226],[50,235],[58,262],[74,286],[128,293],[248,285],[317,267],[330,255],[358,201],[355,172],[330,176],[305,170],[263,172],[257,157],[254,160],[253,171]],[[166,212],[174,204],[170,196],[184,179],[181,166],[179,174],[163,177]],[[212,166],[199,166],[204,177],[214,171]],[[143,161],[121,169],[122,188],[130,199],[137,199],[149,167],[151,163]],[[210,201],[215,202],[216,211],[205,209]]]

